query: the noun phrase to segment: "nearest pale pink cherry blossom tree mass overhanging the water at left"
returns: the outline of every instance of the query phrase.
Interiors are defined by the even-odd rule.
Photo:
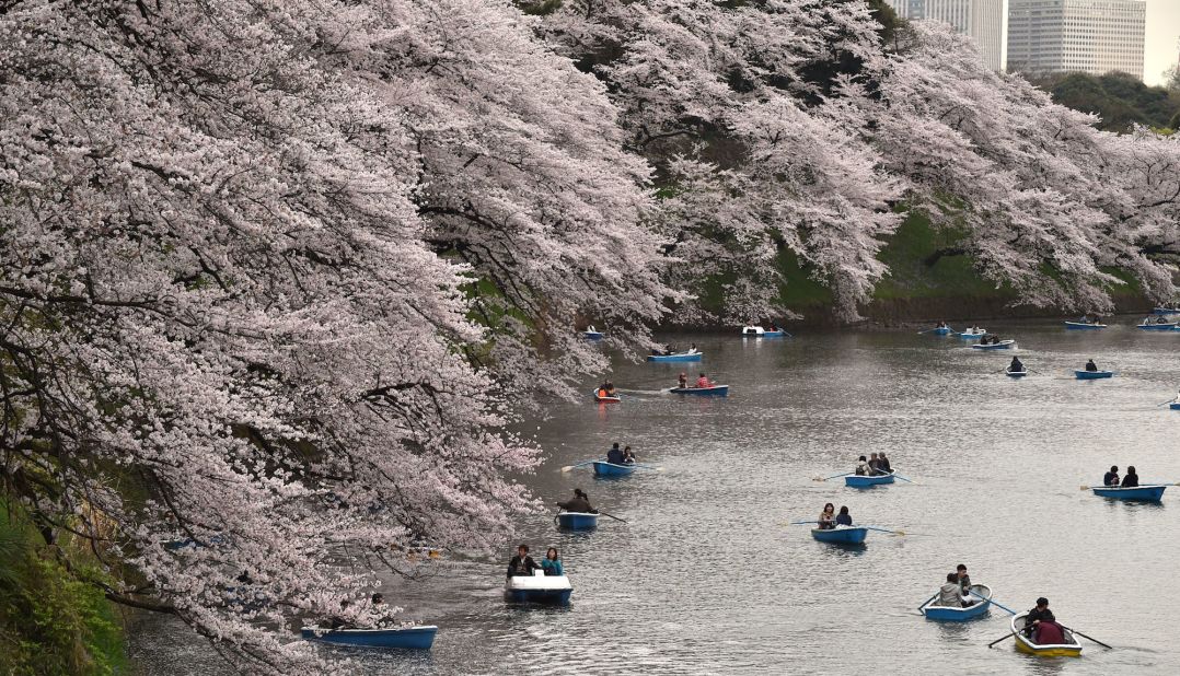
[[[499,546],[539,462],[507,394],[675,295],[602,85],[507,4],[26,0],[0,34],[4,499],[244,671],[316,670],[286,628],[371,622],[398,547]]]

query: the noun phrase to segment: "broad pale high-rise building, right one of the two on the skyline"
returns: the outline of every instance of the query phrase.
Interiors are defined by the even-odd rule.
[[[1009,2],[1009,71],[1143,77],[1143,0]]]

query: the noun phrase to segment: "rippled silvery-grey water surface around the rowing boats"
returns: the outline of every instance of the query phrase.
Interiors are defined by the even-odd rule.
[[[681,336],[703,362],[616,360],[614,381],[629,396],[556,406],[538,432],[546,462],[527,479],[548,503],[582,487],[627,519],[601,518],[592,533],[558,532],[552,513],[523,523],[536,556],[560,547],[570,608],[506,606],[506,544],[496,560],[386,590],[440,625],[431,652],[350,655],[374,674],[1180,672],[1180,487],[1159,505],[1079,490],[1112,464],[1135,465],[1143,483],[1180,480],[1180,412],[1155,406],[1180,382],[1180,333],[989,328],[1016,337],[1036,373],[1008,379],[1012,353],[913,332]],[[1075,381],[1089,357],[1115,378]],[[701,369],[730,396],[658,392]],[[560,473],[612,441],[664,471]],[[918,484],[813,480],[872,451]],[[847,550],[784,525],[814,519],[826,501],[907,534],[873,532]],[[1083,642],[1081,659],[1027,657],[1010,641],[989,650],[1007,632],[998,609],[963,625],[926,622],[918,605],[957,563],[1001,603],[1025,610],[1047,596],[1063,623],[1116,649]],[[223,671],[168,621],[145,621],[132,641],[149,674]]]

